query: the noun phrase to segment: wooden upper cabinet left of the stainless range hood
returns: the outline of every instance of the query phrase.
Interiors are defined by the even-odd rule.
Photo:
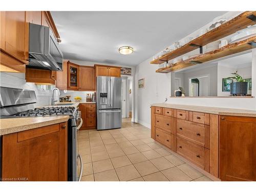
[[[27,63],[25,25],[25,11],[1,12],[1,49],[23,63]]]

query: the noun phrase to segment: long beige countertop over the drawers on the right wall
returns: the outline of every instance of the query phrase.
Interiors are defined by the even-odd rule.
[[[151,104],[151,106],[160,106],[162,108],[172,108],[172,109],[179,109],[179,110],[217,114],[217,115],[256,117],[256,110],[216,108],[214,106],[198,106],[198,105],[185,105],[185,104],[172,104],[172,103],[154,103],[154,104]]]

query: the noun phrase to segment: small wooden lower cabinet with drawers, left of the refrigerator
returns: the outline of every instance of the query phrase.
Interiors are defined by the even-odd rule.
[[[79,109],[83,120],[81,130],[96,129],[96,104],[80,103]]]

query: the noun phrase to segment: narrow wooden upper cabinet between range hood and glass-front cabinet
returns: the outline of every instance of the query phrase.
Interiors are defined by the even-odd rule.
[[[56,71],[56,88],[68,90],[68,61],[63,61],[62,71]]]

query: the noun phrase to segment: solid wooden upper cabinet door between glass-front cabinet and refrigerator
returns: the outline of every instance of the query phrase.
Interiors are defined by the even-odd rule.
[[[93,67],[80,67],[80,91],[95,91],[95,68]]]

